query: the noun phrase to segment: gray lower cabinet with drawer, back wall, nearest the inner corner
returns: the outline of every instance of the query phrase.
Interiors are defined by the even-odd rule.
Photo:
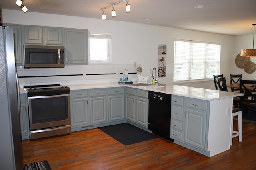
[[[124,119],[124,88],[108,89],[108,120]]]

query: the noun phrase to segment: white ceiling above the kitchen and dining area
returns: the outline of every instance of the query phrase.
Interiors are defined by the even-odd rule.
[[[21,10],[16,0],[1,0],[1,8]],[[28,12],[60,14],[101,19],[102,8],[118,0],[23,0]],[[112,7],[105,10],[106,21],[126,21],[174,27],[224,35],[253,33],[256,23],[256,0],[129,0],[131,12],[125,4],[114,6],[116,17],[111,17]],[[194,8],[204,5],[204,8]],[[149,19],[149,20],[145,20]],[[4,20],[4,19],[3,19]]]

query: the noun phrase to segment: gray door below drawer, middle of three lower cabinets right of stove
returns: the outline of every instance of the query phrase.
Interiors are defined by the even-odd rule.
[[[91,104],[91,123],[106,122],[106,97],[90,98]]]

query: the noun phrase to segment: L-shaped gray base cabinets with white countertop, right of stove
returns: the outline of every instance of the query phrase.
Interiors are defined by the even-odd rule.
[[[111,107],[115,107],[116,104],[126,107],[125,96],[128,96],[129,89],[137,92],[134,94],[135,98],[145,100],[148,96],[138,96],[142,94],[141,92],[147,94],[148,91],[154,91],[171,94],[170,136],[174,139],[174,143],[209,157],[230,149],[233,97],[242,95],[233,92],[168,84],[136,86],[136,84],[118,83],[79,85],[67,83],[63,85],[70,87],[71,120],[74,125],[72,131],[124,122],[148,130],[148,115],[144,115],[144,121],[131,121],[126,115],[127,108],[120,115],[112,115]],[[112,105],[111,99],[116,99],[114,101],[117,103]],[[86,102],[89,103],[88,106],[85,106]],[[90,106],[94,102],[96,105]],[[75,113],[72,112],[75,112],[78,108],[84,109],[84,115],[82,116],[87,116],[90,119],[87,118],[82,122],[80,116],[75,117]],[[94,109],[100,110],[95,112]],[[99,115],[98,111],[102,111],[102,115]],[[146,110],[146,114],[148,114],[148,110]],[[77,122],[74,122],[75,120]]]

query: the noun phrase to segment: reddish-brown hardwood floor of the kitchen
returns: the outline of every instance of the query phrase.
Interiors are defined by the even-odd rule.
[[[90,129],[22,141],[23,164],[47,160],[52,170],[253,170],[256,123],[242,124],[242,143],[235,137],[230,150],[211,158],[162,138],[124,146],[100,129]]]

